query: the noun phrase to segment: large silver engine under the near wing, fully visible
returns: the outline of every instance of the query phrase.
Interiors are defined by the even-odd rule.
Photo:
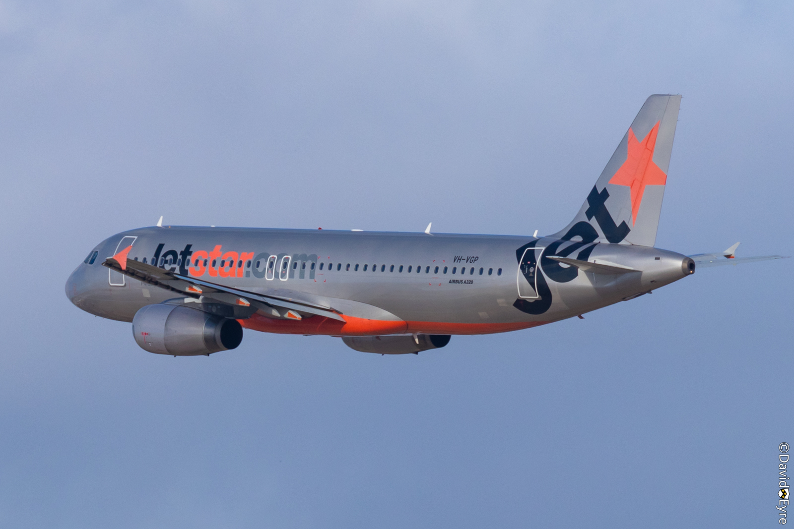
[[[195,356],[234,349],[243,339],[243,328],[237,320],[160,303],[135,313],[133,335],[150,353]]]

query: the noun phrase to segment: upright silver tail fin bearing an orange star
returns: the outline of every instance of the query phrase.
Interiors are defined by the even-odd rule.
[[[579,213],[555,236],[653,246],[680,102],[680,95],[646,100]]]

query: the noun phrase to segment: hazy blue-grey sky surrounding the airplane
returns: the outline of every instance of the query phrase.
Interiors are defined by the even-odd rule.
[[[657,246],[792,255],[791,2],[0,0],[4,527],[771,527],[792,261],[420,355],[142,351],[64,283],[166,224],[531,234],[683,94]]]

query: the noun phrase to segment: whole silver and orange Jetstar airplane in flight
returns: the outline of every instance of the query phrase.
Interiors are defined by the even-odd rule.
[[[783,259],[654,247],[680,95],[650,96],[576,217],[548,236],[156,226],[99,243],[69,300],[145,351],[210,355],[243,329],[399,355],[630,301],[696,267]]]

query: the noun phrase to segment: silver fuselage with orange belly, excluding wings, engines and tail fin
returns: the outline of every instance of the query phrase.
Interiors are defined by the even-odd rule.
[[[101,265],[120,250],[122,239],[125,246],[132,243],[129,259],[146,259],[165,270],[222,286],[327,306],[349,320],[331,327],[321,324],[319,316],[299,322],[262,315],[241,320],[256,330],[295,334],[505,332],[577,316],[691,273],[682,268],[688,259],[684,255],[626,243],[584,244],[531,236],[140,228],[99,243],[94,263],[81,263],[66,284],[67,296],[80,309],[122,321],[132,321],[145,305],[175,297]],[[566,254],[572,245],[578,245],[576,252]],[[551,260],[553,255],[575,257],[583,249],[588,250],[585,260],[634,271],[594,273]]]

